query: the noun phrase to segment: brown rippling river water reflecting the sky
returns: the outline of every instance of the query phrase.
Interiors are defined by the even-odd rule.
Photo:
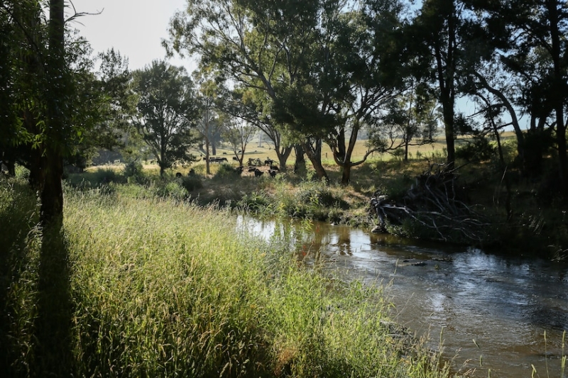
[[[241,218],[267,240],[290,227]],[[285,228],[283,230],[282,228]],[[307,262],[344,279],[381,284],[398,323],[474,377],[561,376],[568,355],[568,265],[476,248],[417,243],[370,230],[315,223],[302,235]],[[564,345],[563,345],[564,344]],[[563,349],[564,348],[564,349]]]

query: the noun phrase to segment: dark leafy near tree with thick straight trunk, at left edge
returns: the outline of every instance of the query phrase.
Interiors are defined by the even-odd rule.
[[[93,128],[104,118],[104,95],[91,72],[88,43],[69,26],[85,13],[66,14],[65,9],[63,0],[0,2],[0,23],[6,32],[0,39],[0,79],[6,83],[1,94],[6,100],[2,159],[30,169],[30,184],[40,194],[42,221],[62,213],[63,160],[101,135]]]

